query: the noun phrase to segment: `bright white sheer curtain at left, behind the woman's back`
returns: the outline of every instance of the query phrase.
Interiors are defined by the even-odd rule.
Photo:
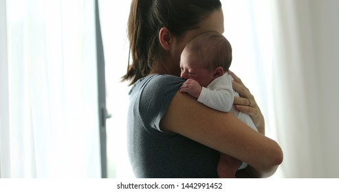
[[[94,1],[0,1],[2,178],[100,178]]]

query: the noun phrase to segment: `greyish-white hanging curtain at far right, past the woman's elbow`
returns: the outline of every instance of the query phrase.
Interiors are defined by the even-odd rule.
[[[274,113],[287,178],[339,177],[339,1],[274,1]]]

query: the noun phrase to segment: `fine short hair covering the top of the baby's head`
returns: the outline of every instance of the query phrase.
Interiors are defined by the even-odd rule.
[[[218,32],[204,32],[190,41],[186,48],[204,60],[208,69],[223,67],[228,71],[232,62],[232,47],[228,40]]]

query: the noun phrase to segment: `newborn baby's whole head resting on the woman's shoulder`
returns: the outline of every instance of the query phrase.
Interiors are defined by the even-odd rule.
[[[190,41],[180,58],[181,77],[207,86],[223,75],[232,62],[232,47],[218,32],[204,32]]]

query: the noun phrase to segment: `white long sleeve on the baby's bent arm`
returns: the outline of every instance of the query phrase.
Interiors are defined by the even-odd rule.
[[[225,73],[213,80],[207,88],[201,89],[198,101],[215,110],[229,112],[233,105],[233,97],[232,77]]]

